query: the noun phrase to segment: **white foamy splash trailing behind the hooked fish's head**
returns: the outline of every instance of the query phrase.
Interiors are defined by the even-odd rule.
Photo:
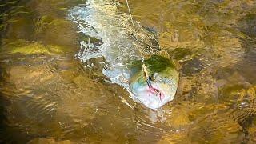
[[[139,50],[145,47],[142,41],[145,41],[149,34],[136,22],[138,34],[134,35],[134,26],[130,22],[129,14],[120,13],[118,6],[118,2],[90,0],[85,5],[70,10],[70,18],[77,23],[78,33],[87,37],[80,42],[81,49],[77,58],[87,62],[91,58],[104,57],[108,64],[102,73],[110,78],[111,82],[130,91],[127,83],[130,78],[127,64],[140,59]]]

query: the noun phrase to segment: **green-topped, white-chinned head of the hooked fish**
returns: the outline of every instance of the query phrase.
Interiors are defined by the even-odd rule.
[[[131,74],[130,90],[138,102],[158,109],[174,99],[178,87],[178,70],[170,59],[158,55],[147,59],[145,66],[147,76],[145,70],[139,67]]]

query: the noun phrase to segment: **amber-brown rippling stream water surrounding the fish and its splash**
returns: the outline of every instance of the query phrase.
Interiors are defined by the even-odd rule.
[[[2,1],[0,142],[256,141],[256,3],[129,2],[134,20],[178,61],[174,101],[149,110],[102,73],[112,61],[81,57],[88,36],[78,33],[70,10],[85,1]],[[124,21],[125,1],[102,6],[113,4],[114,22]],[[115,34],[105,43],[120,41]],[[98,52],[104,42],[91,36],[90,43]]]

